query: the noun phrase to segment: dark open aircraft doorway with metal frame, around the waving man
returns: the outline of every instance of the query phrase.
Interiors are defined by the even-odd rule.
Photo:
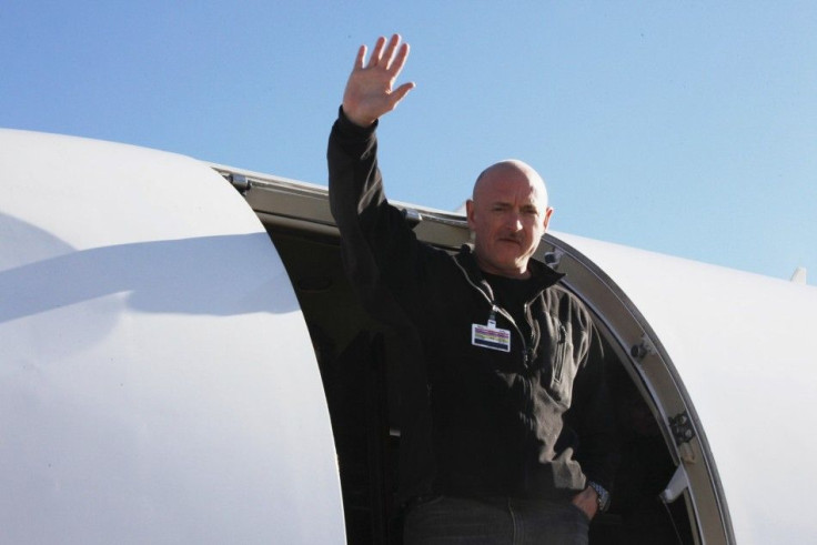
[[[252,180],[245,188],[312,334],[333,425],[347,543],[399,544],[399,380],[405,355],[346,282],[325,190],[274,180]],[[421,240],[451,251],[467,240],[458,216],[406,213],[416,220]],[[623,458],[612,507],[594,519],[591,543],[733,543],[706,440],[649,325],[611,279],[567,244],[548,235],[537,258],[568,274],[566,285],[596,315],[609,357]]]

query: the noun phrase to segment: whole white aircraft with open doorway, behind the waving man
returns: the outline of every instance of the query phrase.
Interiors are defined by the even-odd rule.
[[[0,180],[0,543],[390,543],[401,354],[324,188],[12,130]],[[817,543],[817,289],[564,233],[538,258],[611,354],[591,543]]]

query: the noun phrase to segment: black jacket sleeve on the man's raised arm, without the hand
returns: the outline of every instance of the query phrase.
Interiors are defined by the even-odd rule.
[[[422,249],[403,212],[389,204],[377,168],[376,122],[352,123],[340,110],[326,159],[332,215],[346,275],[376,319],[395,324],[421,275]]]

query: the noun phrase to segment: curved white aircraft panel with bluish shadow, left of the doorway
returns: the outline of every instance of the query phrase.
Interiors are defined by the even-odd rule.
[[[0,131],[0,543],[345,543],[286,272],[205,164]]]

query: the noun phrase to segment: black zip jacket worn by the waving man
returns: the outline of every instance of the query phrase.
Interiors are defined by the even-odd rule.
[[[452,256],[418,242],[387,203],[376,148],[374,127],[341,112],[329,142],[330,203],[364,306],[414,362],[401,375],[403,495],[569,497],[587,478],[609,490],[613,414],[588,311],[561,274],[532,261],[523,335],[467,246]],[[490,319],[511,332],[510,352],[472,342],[472,324]]]

